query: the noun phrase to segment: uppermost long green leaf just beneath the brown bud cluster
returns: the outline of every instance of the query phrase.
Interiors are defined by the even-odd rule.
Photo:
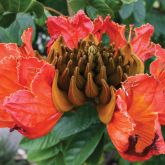
[[[97,122],[99,122],[99,119],[96,109],[91,104],[86,104],[76,112],[65,113],[48,135],[35,140],[24,138],[21,146],[28,150],[45,149],[56,145],[71,135],[87,129]]]

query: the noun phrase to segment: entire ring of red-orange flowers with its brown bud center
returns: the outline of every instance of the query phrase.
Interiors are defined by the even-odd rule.
[[[120,155],[130,161],[164,154],[165,50],[150,41],[154,28],[91,21],[83,11],[74,17],[49,17],[48,56],[31,46],[32,29],[23,46],[0,44],[0,127],[28,138],[51,131],[64,112],[86,101],[96,105],[100,120]],[[102,35],[110,38],[109,46]],[[152,56],[151,75],[144,62]]]

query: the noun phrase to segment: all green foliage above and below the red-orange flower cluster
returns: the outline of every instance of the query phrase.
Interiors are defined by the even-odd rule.
[[[45,54],[49,40],[45,26],[47,17],[73,15],[79,9],[91,19],[109,14],[116,22],[126,25],[140,26],[149,22],[155,27],[153,41],[165,47],[165,0],[0,0],[0,42],[20,45],[23,30],[32,26],[33,47]],[[104,41],[108,42],[106,37]],[[146,72],[151,60],[146,63]],[[36,140],[24,138],[21,146],[28,151],[28,160],[38,165],[131,164],[120,158],[91,104],[84,105],[76,113],[66,113],[47,136]],[[12,155],[8,152],[7,155]],[[1,155],[0,152],[0,160],[6,160]],[[132,164],[163,165],[165,157]]]

